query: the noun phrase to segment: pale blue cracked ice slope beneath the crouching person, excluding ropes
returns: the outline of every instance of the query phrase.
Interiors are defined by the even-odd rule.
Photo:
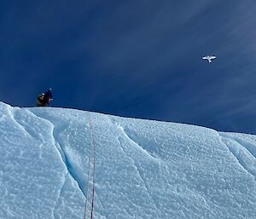
[[[0,136],[0,218],[83,218],[89,169],[90,218],[92,142],[94,218],[256,218],[256,135],[0,102]]]

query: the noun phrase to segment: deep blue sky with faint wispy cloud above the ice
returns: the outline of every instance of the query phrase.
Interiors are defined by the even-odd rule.
[[[256,133],[256,1],[1,1],[0,100]],[[216,55],[211,65],[203,55]]]

